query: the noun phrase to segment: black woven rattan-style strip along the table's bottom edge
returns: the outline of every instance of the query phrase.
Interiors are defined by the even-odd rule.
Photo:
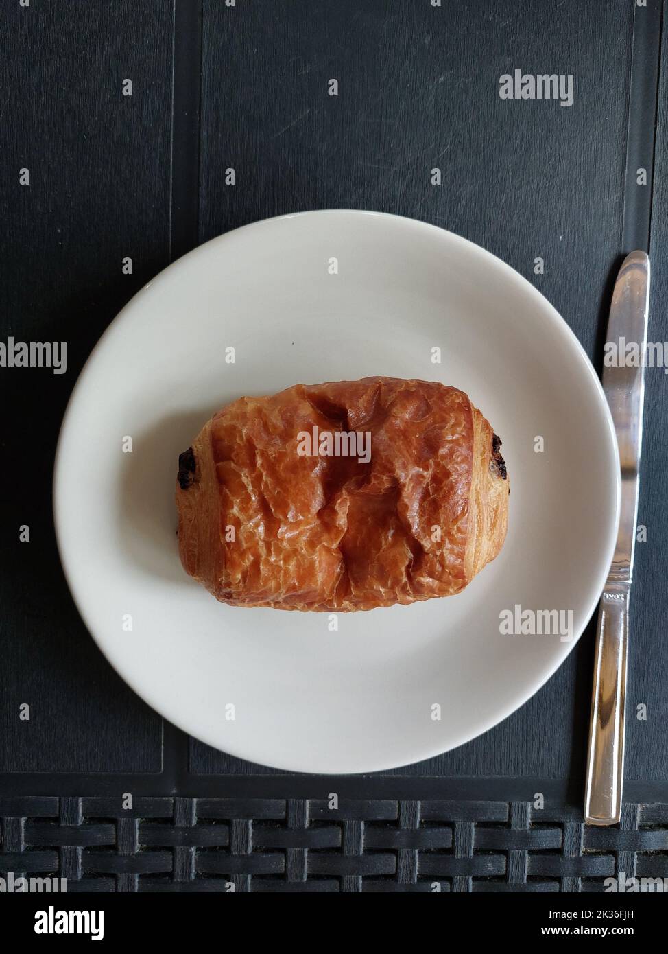
[[[76,891],[604,891],[668,878],[668,804],[614,828],[524,801],[0,799],[0,876]]]

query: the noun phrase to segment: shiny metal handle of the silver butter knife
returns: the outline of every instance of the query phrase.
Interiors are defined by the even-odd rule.
[[[605,591],[598,608],[584,799],[584,817],[591,825],[617,824],[621,813],[628,634],[628,589]]]

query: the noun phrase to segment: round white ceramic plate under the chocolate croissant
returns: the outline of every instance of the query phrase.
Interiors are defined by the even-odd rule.
[[[216,603],[178,559],[179,452],[240,395],[367,375],[453,384],[489,418],[512,487],[501,554],[457,596],[343,613],[336,633],[327,613]],[[603,392],[548,301],[452,233],[345,211],[238,229],[142,289],[76,384],[54,477],[73,597],[132,689],[234,756],[316,773],[435,756],[533,695],[575,640],[503,635],[499,613],[572,610],[577,638],[618,497]]]

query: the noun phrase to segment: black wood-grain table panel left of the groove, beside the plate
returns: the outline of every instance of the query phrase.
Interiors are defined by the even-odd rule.
[[[68,343],[68,370],[2,368],[0,770],[158,771],[161,720],[95,648],[55,548],[65,405],[115,313],[169,260],[172,10],[3,9],[0,339]],[[133,94],[122,81],[132,78]],[[30,186],[19,186],[19,169]],[[131,257],[132,275],[121,273]],[[122,368],[119,368],[122,374]],[[86,448],[82,447],[82,453]],[[30,526],[30,543],[18,528]],[[20,703],[30,721],[19,721]]]

